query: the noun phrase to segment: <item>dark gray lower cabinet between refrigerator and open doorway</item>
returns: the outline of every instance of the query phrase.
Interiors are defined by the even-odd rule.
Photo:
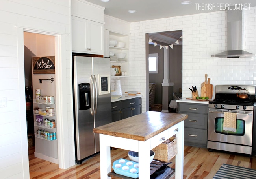
[[[141,114],[141,97],[112,102],[112,122]]]

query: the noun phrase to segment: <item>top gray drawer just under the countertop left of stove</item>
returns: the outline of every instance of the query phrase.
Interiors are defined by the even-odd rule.
[[[179,102],[180,103],[180,102]],[[179,113],[182,112],[191,112],[191,113],[208,113],[207,104],[195,104],[195,103],[180,103],[179,104]]]

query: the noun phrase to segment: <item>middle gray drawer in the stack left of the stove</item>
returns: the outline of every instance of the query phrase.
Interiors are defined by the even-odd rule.
[[[184,127],[207,129],[208,115],[196,113],[182,113],[187,114],[188,118],[184,121]]]

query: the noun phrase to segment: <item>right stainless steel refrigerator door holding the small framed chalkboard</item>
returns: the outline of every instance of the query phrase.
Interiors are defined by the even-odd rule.
[[[96,85],[99,86],[98,75],[110,74],[110,59],[93,57],[93,75],[96,79]],[[110,79],[109,79],[110,80]],[[110,83],[109,83],[110,84]],[[97,88],[98,89],[98,88]],[[94,116],[95,127],[102,126],[112,122],[111,119],[111,93],[98,95],[96,113]],[[95,133],[95,152],[100,151],[99,134]]]

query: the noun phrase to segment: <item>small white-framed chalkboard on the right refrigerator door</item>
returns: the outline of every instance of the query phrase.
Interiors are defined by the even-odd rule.
[[[98,94],[104,95],[110,93],[110,75],[98,74]]]

